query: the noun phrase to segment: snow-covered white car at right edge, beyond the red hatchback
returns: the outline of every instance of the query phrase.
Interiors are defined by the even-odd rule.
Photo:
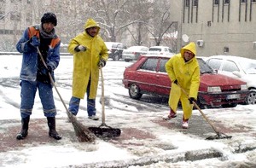
[[[218,73],[247,82],[250,94],[246,104],[256,104],[256,60],[233,55],[213,55],[207,64]]]

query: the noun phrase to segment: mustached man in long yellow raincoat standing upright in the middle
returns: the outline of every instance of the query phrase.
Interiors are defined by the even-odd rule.
[[[93,19],[88,19],[84,32],[73,38],[68,44],[68,51],[73,54],[73,96],[69,101],[69,112],[77,115],[80,99],[87,94],[88,118],[98,120],[96,116],[96,91],[99,81],[99,68],[108,60],[108,49],[98,35],[100,26]]]

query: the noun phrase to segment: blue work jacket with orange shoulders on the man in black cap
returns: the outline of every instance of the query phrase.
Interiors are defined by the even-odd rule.
[[[32,34],[35,34],[36,32],[39,32],[38,26],[31,26],[26,28],[19,42],[16,44],[16,49],[20,53],[23,53],[22,65],[20,70],[20,80],[37,80],[39,55],[37,49],[34,48],[29,41],[29,39],[32,37]],[[49,65],[52,68],[52,70],[55,70],[55,68],[58,67],[60,62],[61,40],[57,36],[55,36],[54,39],[58,39],[57,43],[55,43],[52,46],[49,46],[47,60],[45,60],[46,64]],[[54,78],[54,74],[52,74],[52,76]]]

